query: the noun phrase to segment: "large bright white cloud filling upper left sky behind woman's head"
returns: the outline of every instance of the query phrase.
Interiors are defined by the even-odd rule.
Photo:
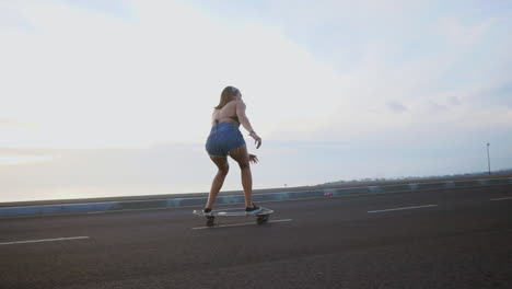
[[[133,1],[136,21],[59,1],[14,7],[35,28],[4,35],[0,92],[10,107],[0,115],[40,126],[20,144],[202,142],[211,107],[226,84],[244,92],[249,116],[264,109],[274,116],[253,114],[259,131],[276,125],[303,128],[296,122],[312,104],[304,95],[334,102],[333,91],[344,82],[279,27],[225,26],[179,1]],[[289,103],[295,109],[283,114],[279,107]],[[323,119],[310,119],[307,128]]]

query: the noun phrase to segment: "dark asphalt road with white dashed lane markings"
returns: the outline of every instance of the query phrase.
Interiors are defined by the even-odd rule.
[[[512,288],[511,185],[260,205],[0,219],[0,289]]]

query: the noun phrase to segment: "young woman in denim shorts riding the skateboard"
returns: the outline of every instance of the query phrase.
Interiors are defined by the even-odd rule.
[[[225,176],[230,170],[228,155],[238,163],[242,171],[242,186],[245,195],[245,211],[256,215],[261,208],[252,200],[253,176],[251,174],[249,162],[256,163],[258,159],[247,152],[244,137],[238,127],[242,125],[249,136],[255,140],[256,149],[261,146],[261,138],[254,131],[251,123],[245,115],[245,103],[242,101],[242,94],[238,89],[226,86],[220,96],[219,105],[214,107],[211,116],[211,131],[208,136],[206,150],[210,159],[219,169],[211,184],[208,201],[202,210],[205,215],[211,212],[216,197],[222,188]]]

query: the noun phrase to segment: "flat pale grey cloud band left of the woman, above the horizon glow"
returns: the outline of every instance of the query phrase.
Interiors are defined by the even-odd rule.
[[[194,183],[194,175],[210,162],[202,146],[162,143],[148,148],[110,149],[20,149],[2,148],[0,157],[45,159],[45,162],[9,166],[2,171],[2,184],[21,181],[53,185]],[[182,166],[184,160],[195,165]],[[202,169],[201,169],[202,167]],[[213,169],[213,167],[211,167]]]

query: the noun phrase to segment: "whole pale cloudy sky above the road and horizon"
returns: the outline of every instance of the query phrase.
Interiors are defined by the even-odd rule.
[[[226,85],[254,188],[512,167],[511,30],[500,0],[0,0],[0,203],[208,192]]]

